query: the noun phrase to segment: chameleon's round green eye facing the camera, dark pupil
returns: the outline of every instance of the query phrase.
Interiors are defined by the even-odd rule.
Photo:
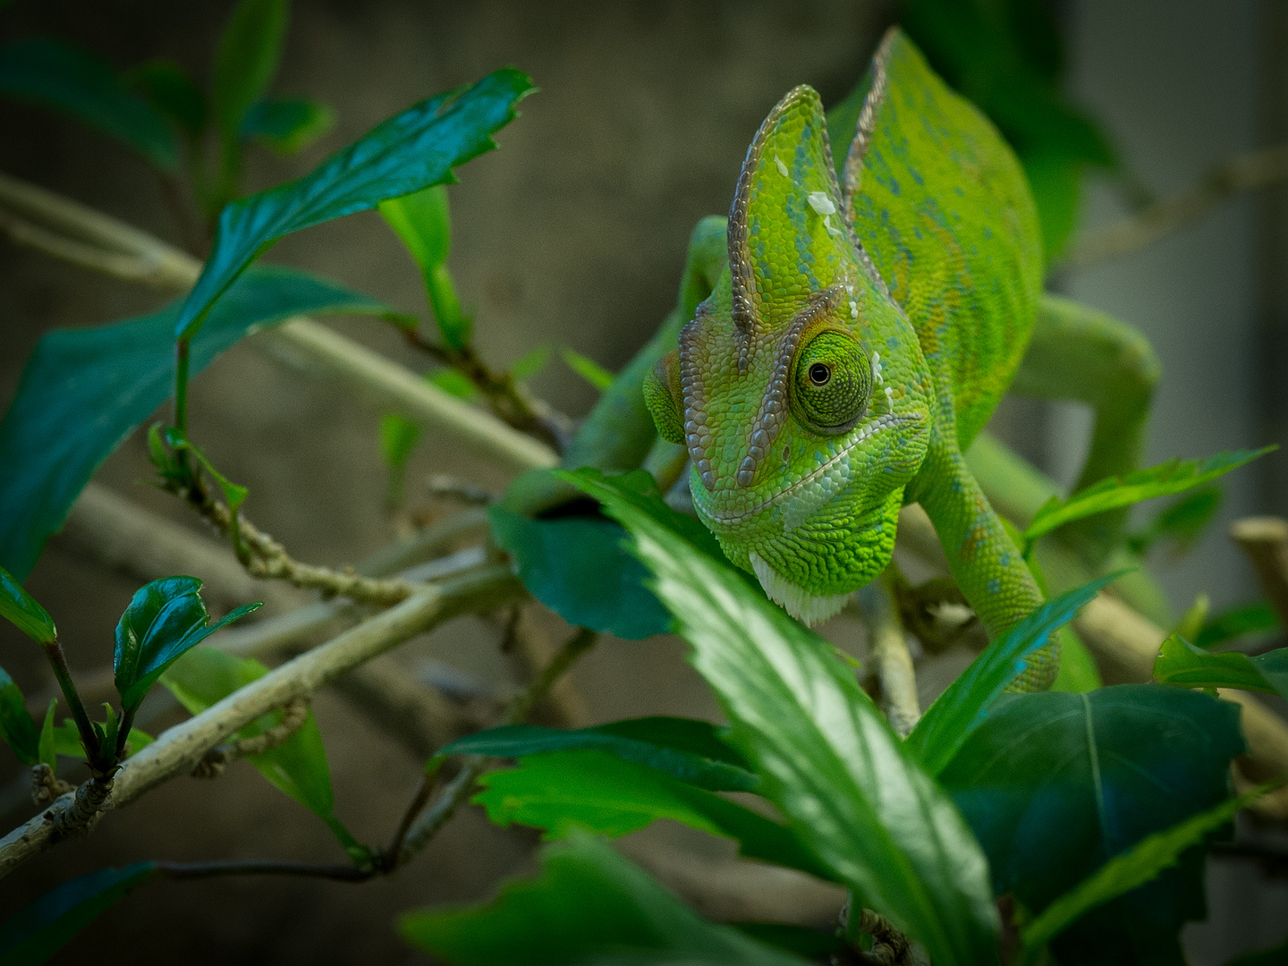
[[[819,433],[845,433],[868,407],[872,365],[846,332],[824,330],[796,354],[792,408]]]

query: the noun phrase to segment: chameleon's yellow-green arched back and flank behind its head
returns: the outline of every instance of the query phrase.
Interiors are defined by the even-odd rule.
[[[1024,171],[997,129],[898,28],[833,112],[845,214],[917,331],[936,422],[970,446],[1010,385],[1042,291],[1042,241]],[[853,103],[853,102],[851,102]],[[850,113],[853,117],[853,113]],[[853,134],[853,138],[851,138]]]

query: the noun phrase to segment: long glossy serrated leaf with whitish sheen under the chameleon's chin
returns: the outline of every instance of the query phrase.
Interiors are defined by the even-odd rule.
[[[979,845],[832,645],[603,478],[559,475],[631,531],[730,739],[805,845],[936,966],[996,961],[997,908]]]

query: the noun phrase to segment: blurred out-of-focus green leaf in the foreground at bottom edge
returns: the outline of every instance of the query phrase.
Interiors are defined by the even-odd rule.
[[[537,878],[511,880],[489,903],[403,916],[403,936],[456,966],[632,962],[802,966],[729,926],[698,917],[638,866],[587,835],[545,848]]]

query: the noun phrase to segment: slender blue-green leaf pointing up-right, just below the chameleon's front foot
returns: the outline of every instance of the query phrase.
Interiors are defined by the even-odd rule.
[[[1078,611],[1119,574],[1092,581],[1061,594],[1011,627],[976,657],[948,689],[935,698],[908,735],[908,748],[926,769],[938,775],[952,761],[971,733],[1011,681],[1024,674],[1028,658],[1051,640],[1051,635],[1074,618]]]

